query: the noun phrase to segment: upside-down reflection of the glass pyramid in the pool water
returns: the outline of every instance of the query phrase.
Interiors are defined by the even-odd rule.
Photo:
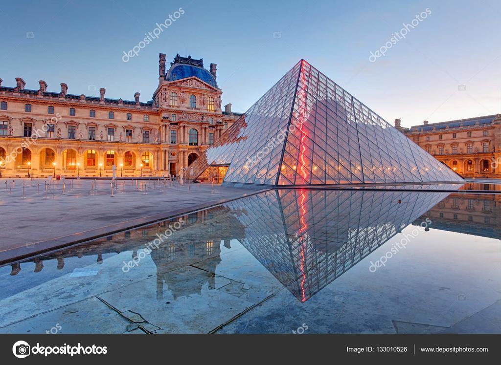
[[[245,212],[240,242],[304,302],[447,195],[270,190],[224,205]]]

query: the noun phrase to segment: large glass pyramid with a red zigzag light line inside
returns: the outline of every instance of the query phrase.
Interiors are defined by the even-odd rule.
[[[301,60],[192,165],[271,186],[458,182],[388,122]]]

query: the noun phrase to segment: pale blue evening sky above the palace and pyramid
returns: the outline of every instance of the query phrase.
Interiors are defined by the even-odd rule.
[[[179,53],[216,63],[223,105],[244,112],[305,59],[409,127],[501,113],[499,14],[498,0],[0,0],[0,78],[124,100],[140,92],[147,102],[158,54]],[[124,62],[169,15],[178,18]]]

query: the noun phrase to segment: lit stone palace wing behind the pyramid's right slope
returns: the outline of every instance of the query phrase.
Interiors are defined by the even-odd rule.
[[[395,127],[463,177],[501,177],[501,114]]]

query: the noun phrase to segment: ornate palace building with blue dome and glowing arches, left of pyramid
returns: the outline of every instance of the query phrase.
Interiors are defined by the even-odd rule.
[[[179,175],[241,116],[221,110],[216,64],[176,55],[166,71],[159,55],[153,99],[134,100],[2,85],[0,172],[3,177]]]

